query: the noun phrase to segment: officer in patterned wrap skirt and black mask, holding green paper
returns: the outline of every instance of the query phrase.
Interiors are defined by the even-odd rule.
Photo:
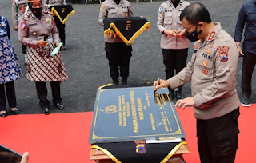
[[[35,81],[42,113],[50,113],[46,81],[50,81],[53,103],[64,109],[60,94],[60,82],[67,80],[61,54],[51,56],[59,38],[54,18],[49,11],[42,11],[41,0],[28,0],[30,10],[25,14],[18,28],[18,39],[27,46],[28,64],[26,77]]]

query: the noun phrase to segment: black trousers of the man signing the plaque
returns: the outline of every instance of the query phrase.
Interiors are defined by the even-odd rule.
[[[222,117],[197,120],[201,163],[234,163],[238,149],[239,108]]]

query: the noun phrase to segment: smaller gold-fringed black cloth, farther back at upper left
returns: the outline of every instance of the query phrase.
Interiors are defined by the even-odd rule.
[[[55,5],[50,6],[51,14],[55,14],[59,20],[64,24],[70,15],[75,13],[75,10],[71,5]]]

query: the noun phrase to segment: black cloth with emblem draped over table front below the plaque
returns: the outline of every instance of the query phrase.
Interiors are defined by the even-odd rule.
[[[185,142],[185,139],[182,139],[182,142]],[[168,155],[170,155],[170,152],[174,149],[174,147],[179,144],[179,142],[174,142],[149,143],[143,145],[135,141],[127,141],[114,143],[97,143],[94,145],[97,145],[102,149],[106,149],[111,153],[112,156],[114,156],[116,159],[118,159],[118,161],[121,161],[122,163],[160,163]]]

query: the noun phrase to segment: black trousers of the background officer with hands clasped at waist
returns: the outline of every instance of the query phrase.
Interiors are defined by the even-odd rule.
[[[188,48],[182,50],[166,50],[162,49],[163,63],[166,66],[166,79],[178,74],[186,66]],[[175,72],[174,72],[175,70]],[[179,87],[182,91],[182,86]]]

